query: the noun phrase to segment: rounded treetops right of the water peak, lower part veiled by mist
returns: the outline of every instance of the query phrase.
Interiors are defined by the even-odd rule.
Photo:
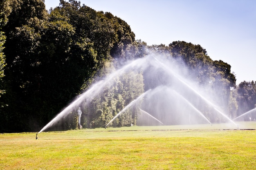
[[[218,96],[213,102],[223,110],[232,110],[235,101],[230,94],[230,88],[236,84],[236,77],[231,73],[231,66],[222,60],[213,61],[207,56],[207,51],[200,45],[176,41],[171,44],[173,57],[180,59],[189,69],[189,75],[199,86],[207,88],[208,95]],[[180,60],[177,60],[180,62]],[[182,63],[181,62],[181,63]],[[182,65],[181,65],[182,66]],[[210,88],[209,88],[210,87]],[[232,103],[232,104],[231,104]],[[235,108],[233,108],[235,110]]]

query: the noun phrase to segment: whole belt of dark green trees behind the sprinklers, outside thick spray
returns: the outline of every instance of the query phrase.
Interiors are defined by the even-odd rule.
[[[176,41],[146,46],[135,40],[121,18],[76,0],[60,0],[49,12],[43,0],[2,0],[0,7],[0,131],[40,130],[95,77],[108,74],[120,61],[144,57],[146,48],[182,61],[191,70],[190,79],[200,85],[210,83],[212,93],[218,89],[221,100],[217,102],[229,110],[230,117],[256,103],[255,83],[243,82],[236,88],[231,66],[211,60],[200,45]],[[110,90],[83,108],[83,127],[106,125],[151,88],[143,76],[150,75],[130,72],[115,79]],[[136,124],[137,114],[137,108],[130,108],[112,126]],[[76,128],[76,113],[68,116],[60,122],[62,129]]]

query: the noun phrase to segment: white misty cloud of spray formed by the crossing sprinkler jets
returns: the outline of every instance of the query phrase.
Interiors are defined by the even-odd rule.
[[[224,100],[219,95],[221,91],[217,91],[218,88],[212,88],[208,77],[205,77],[205,82],[198,83],[182,60],[174,59],[171,55],[161,55],[150,51],[146,57],[120,63],[120,68],[113,68],[111,73],[105,77],[99,77],[40,132],[57,124],[69,113],[76,112],[78,107],[81,107],[84,115],[87,115],[84,116],[86,121],[89,121],[91,115],[94,114],[104,116],[105,122],[102,123],[102,126],[117,126],[122,116],[123,119],[126,119],[126,124],[136,124],[137,126],[226,122],[237,126],[227,114],[227,107],[221,104]],[[193,73],[195,72],[199,73],[200,70],[195,71],[194,69]],[[127,78],[123,77],[128,73],[130,82],[136,82],[137,75],[142,75],[143,91],[140,94],[132,93],[130,102],[124,104],[119,113],[103,115],[103,111],[99,109],[97,113],[93,113],[96,111],[91,106],[96,101],[100,101],[103,95],[113,91],[114,87],[116,90],[113,93],[118,93],[122,87],[117,82],[127,81]],[[143,112],[147,114],[143,114]]]

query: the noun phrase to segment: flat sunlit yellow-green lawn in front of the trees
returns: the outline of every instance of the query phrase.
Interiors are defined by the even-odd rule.
[[[36,132],[6,133],[0,135],[0,170],[254,170],[256,130],[221,130],[231,126],[42,132],[37,140]],[[256,122],[239,126],[255,128]]]

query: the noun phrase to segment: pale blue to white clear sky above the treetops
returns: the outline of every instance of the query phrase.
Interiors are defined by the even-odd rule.
[[[67,0],[66,0],[67,1]],[[256,0],[80,0],[130,25],[152,44],[200,44],[212,60],[231,65],[236,85],[256,81]],[[45,0],[46,9],[59,0]]]

